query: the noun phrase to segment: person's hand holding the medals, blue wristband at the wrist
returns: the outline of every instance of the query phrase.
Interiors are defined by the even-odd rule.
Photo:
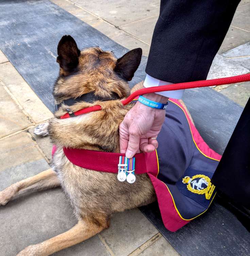
[[[150,100],[166,103],[168,98],[158,94],[143,95]],[[152,152],[158,147],[156,139],[165,120],[165,110],[154,109],[139,101],[127,113],[119,126],[120,153],[133,157],[140,150]]]

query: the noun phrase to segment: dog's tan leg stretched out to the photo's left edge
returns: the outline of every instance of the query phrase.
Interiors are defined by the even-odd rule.
[[[33,177],[14,183],[3,191],[0,191],[0,205],[5,205],[15,196],[30,190],[37,191],[58,186],[60,186],[60,181],[57,178],[56,172],[50,168]]]

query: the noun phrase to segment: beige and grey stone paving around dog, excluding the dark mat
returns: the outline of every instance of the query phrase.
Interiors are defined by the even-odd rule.
[[[114,41],[148,55],[159,1],[52,0]],[[240,2],[209,78],[250,70],[250,0]],[[33,136],[34,127],[53,115],[0,51],[0,191],[48,169],[51,144]],[[241,106],[250,96],[250,83],[214,88]],[[22,196],[0,207],[0,256],[49,239],[76,223],[61,189]],[[170,255],[178,253],[138,210],[115,214],[110,228],[54,255]]]

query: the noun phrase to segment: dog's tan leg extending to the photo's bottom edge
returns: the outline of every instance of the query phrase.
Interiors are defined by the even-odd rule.
[[[108,224],[105,221],[104,225],[96,225],[94,223],[80,220],[76,226],[70,230],[48,239],[39,244],[30,245],[22,250],[17,256],[47,256],[52,253],[63,250],[72,245],[78,244],[95,234],[107,228]]]

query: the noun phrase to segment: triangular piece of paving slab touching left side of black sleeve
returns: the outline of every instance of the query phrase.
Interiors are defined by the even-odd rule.
[[[128,25],[120,26],[119,28],[133,35],[140,40],[151,44],[151,39],[154,31],[155,23],[157,22],[158,15],[149,17]]]

